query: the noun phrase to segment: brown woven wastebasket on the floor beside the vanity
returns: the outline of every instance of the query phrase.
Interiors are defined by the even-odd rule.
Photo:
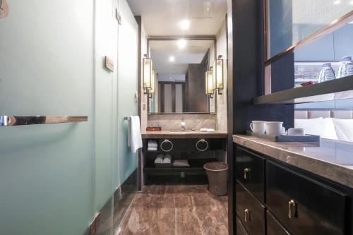
[[[208,177],[208,191],[213,195],[227,195],[228,164],[208,162],[203,165]]]

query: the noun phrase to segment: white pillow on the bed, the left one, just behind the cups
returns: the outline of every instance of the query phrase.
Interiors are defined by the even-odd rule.
[[[303,128],[304,133],[309,135],[320,135],[321,138],[337,140],[337,133],[333,120],[318,118],[318,119],[294,119],[295,128]]]

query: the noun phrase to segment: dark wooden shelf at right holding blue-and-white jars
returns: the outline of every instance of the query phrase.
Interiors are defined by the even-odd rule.
[[[353,98],[353,76],[253,98],[253,104],[302,104]]]

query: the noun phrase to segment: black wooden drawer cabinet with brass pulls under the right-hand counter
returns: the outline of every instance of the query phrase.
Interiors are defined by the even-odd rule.
[[[236,145],[235,158],[237,233],[353,234],[352,188],[247,147]]]

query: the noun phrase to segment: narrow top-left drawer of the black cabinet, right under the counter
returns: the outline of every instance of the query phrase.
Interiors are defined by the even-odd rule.
[[[265,159],[241,147],[237,147],[236,156],[237,180],[264,203]]]

